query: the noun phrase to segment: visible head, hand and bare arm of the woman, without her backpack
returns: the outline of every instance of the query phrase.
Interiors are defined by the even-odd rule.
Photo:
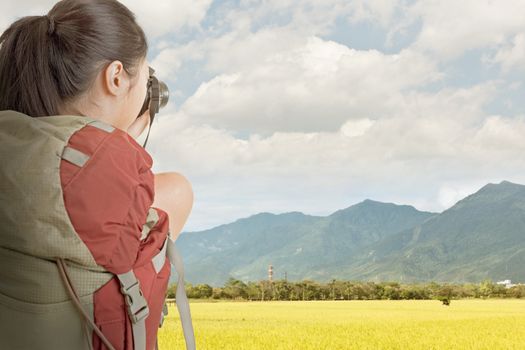
[[[117,1],[60,1],[46,16],[24,17],[1,36],[0,111],[31,117],[83,115],[137,138],[149,77],[147,42],[134,15]],[[193,204],[188,180],[155,175],[155,202],[175,239]]]

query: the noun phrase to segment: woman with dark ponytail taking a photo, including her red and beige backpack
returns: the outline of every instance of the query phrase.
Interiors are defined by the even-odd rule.
[[[64,301],[74,300],[69,296],[75,292],[68,296],[59,284],[59,258],[72,262],[69,268],[72,284],[78,287],[76,297],[84,309],[87,305],[91,310],[91,321],[97,326],[93,330],[100,328],[103,333],[97,329],[98,336],[93,333],[91,337],[88,330],[88,348],[106,349],[103,344],[108,343],[118,349],[144,348],[137,346],[135,321],[131,337],[131,325],[125,318],[126,303],[133,298],[124,303],[119,281],[111,279],[108,272],[123,275],[137,260],[160,255],[162,233],[167,234],[169,225],[175,240],[193,204],[188,180],[175,172],[152,174],[149,154],[135,142],[150,122],[149,111],[138,117],[147,94],[147,50],[146,37],[134,14],[116,0],[62,0],[47,15],[23,17],[0,36],[0,348],[84,349],[75,345],[81,328],[77,325],[79,315]],[[42,117],[47,121],[31,122]],[[70,119],[65,122],[64,118]],[[88,118],[100,121],[105,131],[100,125],[97,130],[86,124],[82,132],[73,134],[69,145],[81,145],[89,135],[102,139],[108,130],[118,132],[111,133],[110,141],[100,142],[104,152],[94,148],[102,154],[93,153],[93,158],[98,159],[98,165],[106,161],[105,166],[88,163],[91,165],[82,170],[82,177],[76,173],[78,167],[61,160],[60,154],[44,151],[50,145],[55,145],[55,151],[64,147],[57,143],[63,140],[62,125],[80,128],[79,120]],[[67,120],[76,121],[68,124]],[[38,144],[31,143],[31,135],[46,133],[52,142],[39,138]],[[67,144],[68,140],[64,141]],[[97,142],[92,140],[92,146],[99,145]],[[23,154],[24,149],[39,148],[51,164],[28,160]],[[114,156],[108,154],[112,150]],[[94,184],[91,191],[98,190],[97,194],[86,190],[89,181]],[[101,188],[107,189],[107,195]],[[64,198],[58,198],[57,193],[63,193]],[[115,193],[124,196],[125,203],[120,203]],[[160,210],[152,221],[157,227],[149,226],[150,232],[157,231],[145,238],[150,203],[149,209]],[[164,228],[159,215],[161,219],[164,216]],[[100,222],[95,222],[95,217]],[[105,234],[108,236],[103,237]],[[161,237],[160,243],[155,237]],[[154,250],[153,244],[158,245]],[[65,245],[72,245],[72,250],[59,256]],[[149,281],[144,282],[151,283],[148,290],[142,292],[148,298],[157,293],[151,298],[160,300],[169,263],[162,260],[157,274],[152,272],[155,264],[142,265],[145,267],[136,272],[135,281]],[[75,277],[81,271],[75,266],[90,274]],[[156,276],[157,282],[151,282],[150,276]],[[156,334],[159,326],[162,304],[157,304],[150,305],[150,317],[145,321],[147,344],[155,345],[150,333]],[[143,338],[144,334],[141,342],[146,344]]]

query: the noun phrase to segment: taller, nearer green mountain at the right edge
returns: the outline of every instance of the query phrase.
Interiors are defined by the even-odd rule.
[[[525,186],[488,184],[370,247],[349,276],[398,281],[525,281]]]

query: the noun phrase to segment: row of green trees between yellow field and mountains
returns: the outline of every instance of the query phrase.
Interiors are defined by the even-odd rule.
[[[208,284],[185,285],[188,298],[230,300],[408,300],[408,299],[463,299],[463,298],[522,298],[525,285],[506,288],[485,280],[480,283],[415,283],[359,282],[331,280],[320,283],[310,280],[290,282],[243,282],[230,278],[222,287]],[[175,298],[176,284],[168,288],[168,298]]]

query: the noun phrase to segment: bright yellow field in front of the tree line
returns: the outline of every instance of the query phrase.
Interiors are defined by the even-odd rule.
[[[197,349],[525,349],[525,300],[191,303]],[[176,308],[160,350],[184,349]]]

